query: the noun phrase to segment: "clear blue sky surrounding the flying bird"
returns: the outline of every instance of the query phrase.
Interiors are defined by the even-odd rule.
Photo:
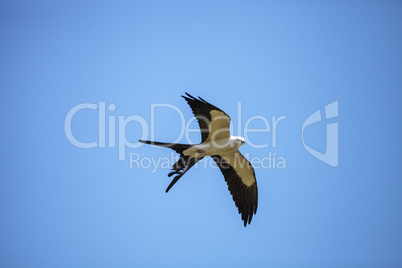
[[[0,6],[2,267],[402,265],[401,3]],[[158,141],[178,137],[179,114],[165,107],[151,117],[151,105],[174,105],[187,122],[184,92],[231,115],[242,136],[253,116],[286,117],[275,147],[271,129],[249,135],[268,147],[240,148],[249,159],[285,161],[256,168],[259,206],[246,228],[218,169],[193,168],[166,194],[169,168],[130,168],[129,154],[169,150],[126,148],[119,160],[119,135],[143,135],[139,118],[154,123]],[[339,116],[325,119],[334,101]],[[103,148],[74,146],[68,112],[97,105],[77,112],[71,130],[99,142],[103,102],[116,146],[108,131]],[[326,126],[338,123],[336,167],[303,146],[303,122],[317,110],[323,120],[305,129],[305,142],[325,152]],[[119,131],[130,116],[137,121]]]

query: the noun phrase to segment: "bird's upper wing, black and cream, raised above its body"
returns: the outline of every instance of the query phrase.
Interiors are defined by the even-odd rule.
[[[186,92],[182,96],[190,105],[201,130],[201,142],[229,138],[230,117],[218,107],[201,97],[195,98]]]

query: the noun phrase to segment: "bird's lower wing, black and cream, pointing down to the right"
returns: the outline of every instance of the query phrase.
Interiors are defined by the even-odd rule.
[[[258,205],[257,181],[252,165],[239,150],[212,158],[225,177],[244,226],[250,224]]]

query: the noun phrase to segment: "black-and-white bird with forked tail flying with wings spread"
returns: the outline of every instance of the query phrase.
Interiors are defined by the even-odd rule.
[[[201,143],[179,144],[139,140],[142,143],[171,148],[180,154],[179,160],[168,174],[169,177],[176,176],[167,187],[166,193],[198,161],[205,156],[211,156],[225,178],[244,226],[250,224],[257,212],[258,189],[252,165],[238,150],[245,143],[244,138],[230,134],[230,117],[218,107],[188,93],[182,97],[190,105],[198,121]]]

